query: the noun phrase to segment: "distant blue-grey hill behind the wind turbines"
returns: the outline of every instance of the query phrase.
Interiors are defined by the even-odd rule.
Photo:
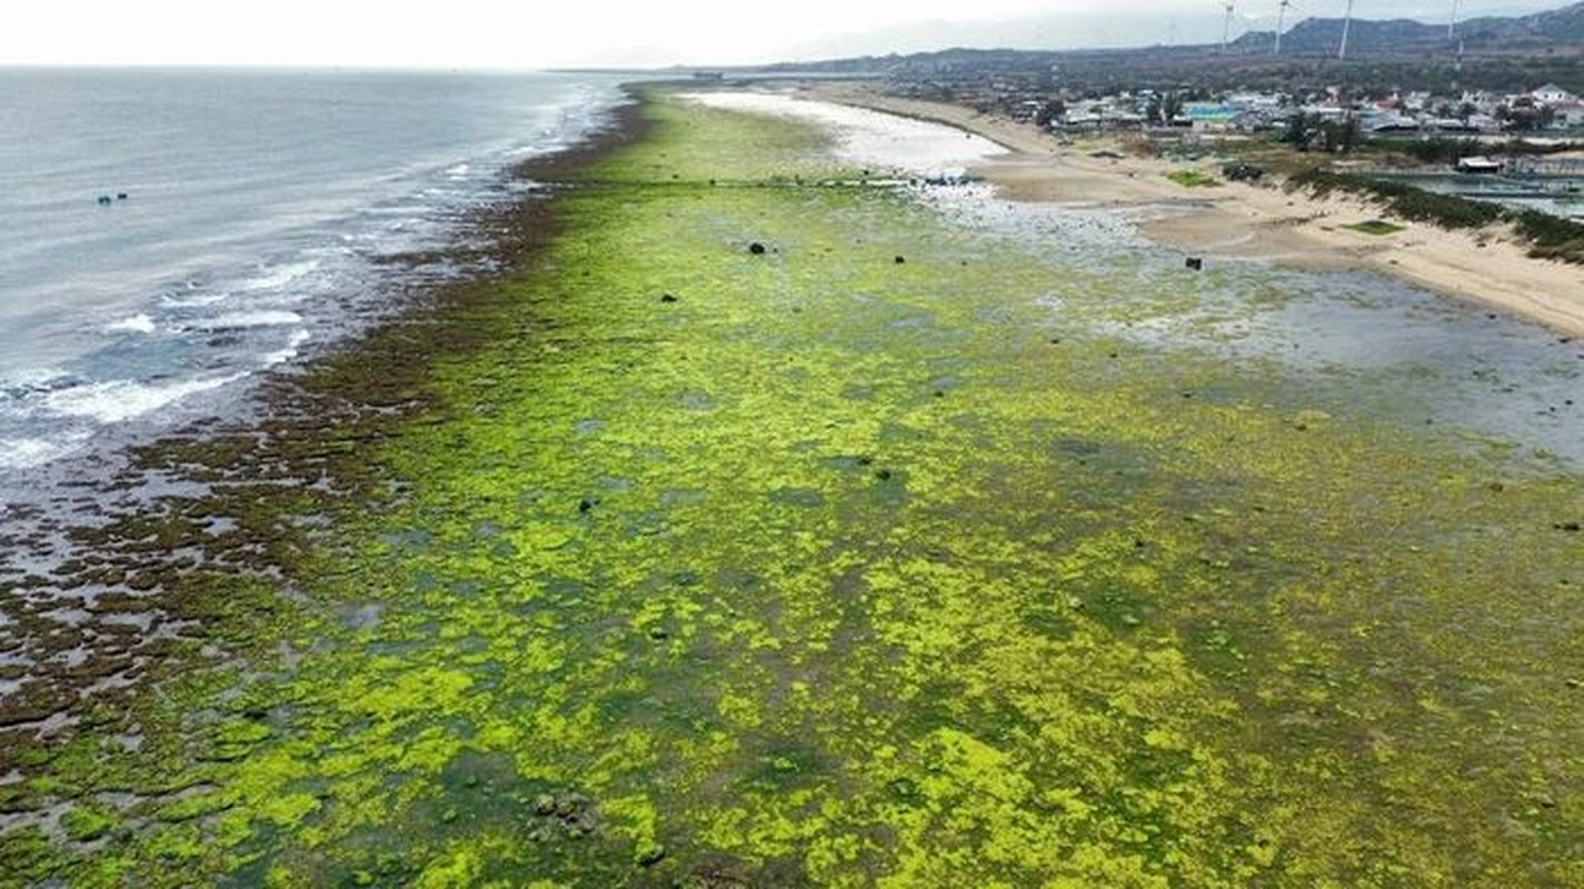
[[[1281,35],[1281,52],[1335,52],[1342,43],[1342,19],[1304,19]],[[1457,38],[1470,49],[1536,49],[1584,43],[1584,2],[1517,17],[1481,17],[1457,24]],[[1248,32],[1234,41],[1242,52],[1269,51],[1274,32]],[[1353,19],[1351,52],[1446,46],[1446,25],[1411,19]]]

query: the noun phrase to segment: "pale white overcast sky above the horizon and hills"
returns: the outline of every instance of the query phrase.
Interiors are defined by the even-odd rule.
[[[1234,35],[1277,0],[1234,0]],[[1294,0],[1288,24],[1345,0]],[[1567,0],[1462,0],[1462,17]],[[16,0],[0,63],[545,68],[725,65],[954,44],[1071,49],[1220,40],[1221,0]],[[1445,22],[1451,0],[1356,0]]]

